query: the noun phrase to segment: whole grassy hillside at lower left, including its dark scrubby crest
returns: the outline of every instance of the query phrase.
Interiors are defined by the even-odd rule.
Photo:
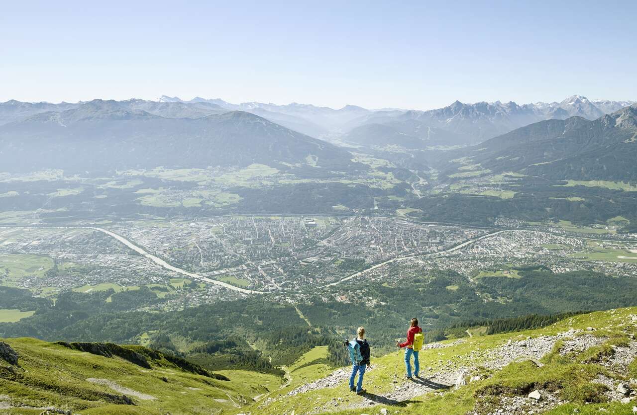
[[[3,414],[233,412],[279,384],[275,376],[240,370],[211,373],[143,346],[25,337],[0,342],[0,378]]]

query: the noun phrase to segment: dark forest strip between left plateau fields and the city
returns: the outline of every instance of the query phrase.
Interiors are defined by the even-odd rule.
[[[288,213],[288,214],[318,214],[338,213],[334,206],[343,205],[352,209],[371,209],[374,197],[386,197],[404,193],[402,188],[372,188],[366,185],[338,183],[336,180],[345,177],[336,176],[333,183],[292,183],[276,186],[241,187],[231,186],[227,192],[238,195],[238,202],[227,206],[201,204],[201,206],[147,206],[140,204],[140,194],[132,188],[99,188],[88,187],[82,193],[66,195],[64,197],[49,198],[48,193],[56,192],[58,188],[69,186],[67,181],[31,181],[21,183],[22,191],[3,199],[4,210],[35,211],[44,203],[52,213],[39,213],[46,223],[64,223],[69,220],[91,219],[108,216],[136,216],[153,215],[160,217],[199,217],[224,215],[228,213]],[[135,177],[139,179],[139,188],[167,188],[174,192],[196,192],[201,190],[197,183],[188,181],[171,181]],[[15,189],[13,183],[0,182],[0,194]],[[96,195],[108,195],[95,198]]]

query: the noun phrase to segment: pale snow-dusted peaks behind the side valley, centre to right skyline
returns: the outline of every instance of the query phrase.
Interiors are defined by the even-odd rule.
[[[159,99],[175,100],[178,98],[165,95]],[[332,109],[296,102],[289,105],[261,102],[231,104],[222,99],[201,97],[182,102],[209,102],[226,109],[241,109],[310,136],[323,137],[330,130],[340,130],[347,133],[343,137],[352,143],[393,144],[406,148],[474,144],[541,120],[563,120],[569,116],[594,120],[634,104],[633,101],[590,101],[582,95],[573,95],[561,102],[523,105],[499,101],[475,104],[455,101],[447,107],[429,111],[373,111],[358,106]]]

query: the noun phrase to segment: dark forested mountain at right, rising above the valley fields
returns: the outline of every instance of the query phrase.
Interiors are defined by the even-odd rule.
[[[449,157],[490,172],[548,179],[636,181],[637,104],[596,120],[544,120],[494,137]],[[454,174],[459,164],[447,164]]]

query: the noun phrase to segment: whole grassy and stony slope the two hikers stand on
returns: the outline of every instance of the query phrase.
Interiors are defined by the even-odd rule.
[[[252,409],[264,414],[632,413],[635,313],[633,307],[580,314],[535,330],[427,344],[420,352],[424,373],[413,381],[404,378],[402,353],[390,353],[372,358],[364,378],[367,393],[360,397],[348,392],[345,367],[273,393]]]

